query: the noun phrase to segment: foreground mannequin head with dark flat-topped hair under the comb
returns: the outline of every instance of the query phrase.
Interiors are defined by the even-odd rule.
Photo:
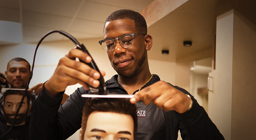
[[[80,140],[136,139],[136,109],[127,99],[87,99],[82,112]]]

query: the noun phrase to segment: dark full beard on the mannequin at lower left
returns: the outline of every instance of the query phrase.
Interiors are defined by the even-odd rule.
[[[13,121],[14,121],[14,118],[10,118],[11,116],[15,116],[15,114],[6,114],[6,113],[4,113],[4,118],[5,118],[6,122],[9,123],[9,124],[12,124]],[[18,124],[24,122],[27,119],[27,117],[28,117],[27,113],[18,114],[14,125],[18,125]]]

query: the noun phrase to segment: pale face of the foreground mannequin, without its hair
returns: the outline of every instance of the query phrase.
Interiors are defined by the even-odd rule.
[[[133,118],[131,115],[93,111],[88,117],[83,139],[133,140]]]

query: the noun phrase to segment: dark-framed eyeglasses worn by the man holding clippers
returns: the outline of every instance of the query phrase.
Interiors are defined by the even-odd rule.
[[[115,46],[115,40],[118,40],[119,44],[123,48],[129,48],[133,45],[135,35],[144,35],[143,33],[127,34],[115,39],[103,39],[99,41],[99,44],[105,51],[112,51]]]

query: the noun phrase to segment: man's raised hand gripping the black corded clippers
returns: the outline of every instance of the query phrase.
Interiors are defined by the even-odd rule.
[[[99,86],[100,74],[87,64],[77,62],[75,59],[90,63],[92,58],[78,49],[71,49],[65,57],[59,60],[52,77],[45,83],[45,88],[50,96],[55,97],[59,92],[65,91],[70,85],[80,83],[84,89],[89,90],[89,85],[97,88]],[[105,76],[104,71],[100,71]]]

